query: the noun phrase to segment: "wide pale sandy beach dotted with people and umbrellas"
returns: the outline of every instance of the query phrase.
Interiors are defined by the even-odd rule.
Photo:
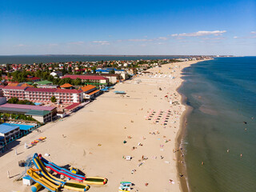
[[[118,191],[122,181],[134,183],[131,191],[181,191],[174,150],[186,107],[177,88],[182,69],[195,62],[152,68],[148,70],[152,74],[118,83],[70,117],[18,139],[0,158],[1,191],[30,191],[30,186],[15,179],[24,171],[18,161],[35,152],[50,154],[46,159],[58,166],[74,166],[87,176],[108,178],[105,186],[91,186],[89,191]],[[114,94],[115,90],[126,94]],[[39,137],[46,140],[24,148]]]

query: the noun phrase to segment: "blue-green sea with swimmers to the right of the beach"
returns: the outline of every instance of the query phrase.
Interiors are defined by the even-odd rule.
[[[256,191],[256,57],[214,58],[183,74],[190,191]]]

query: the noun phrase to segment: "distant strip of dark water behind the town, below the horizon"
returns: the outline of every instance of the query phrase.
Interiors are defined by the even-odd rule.
[[[50,62],[96,62],[96,61],[130,61],[140,59],[171,59],[186,56],[88,56],[88,55],[0,55],[0,64],[33,64]]]

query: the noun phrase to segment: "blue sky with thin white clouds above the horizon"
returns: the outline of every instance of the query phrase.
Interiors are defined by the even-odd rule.
[[[256,55],[255,0],[0,0],[0,55]]]

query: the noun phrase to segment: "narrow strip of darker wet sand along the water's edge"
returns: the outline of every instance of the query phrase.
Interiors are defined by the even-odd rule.
[[[201,61],[198,61],[198,62],[204,62],[204,61],[209,61],[209,60],[212,60],[213,58],[211,59],[206,59],[206,60],[201,60]],[[190,66],[198,63],[198,62],[195,62],[195,63],[191,63]],[[186,67],[190,67],[190,66],[186,66]],[[182,70],[181,70],[181,76],[180,78],[182,79],[182,71],[186,68],[184,67]],[[183,111],[180,119],[180,126],[179,126],[179,130],[178,130],[178,134],[177,134],[177,137],[176,137],[176,142],[175,142],[175,148],[176,149],[180,149],[182,147],[182,140],[183,138],[185,137],[185,134],[186,134],[186,118],[187,116],[192,112],[193,108],[191,106],[188,106],[186,105],[186,95],[182,94],[179,89],[180,87],[182,86],[184,80],[182,79],[182,82],[181,82],[181,85],[178,86],[177,88],[177,92],[178,94],[181,96],[181,103],[183,106],[185,106],[185,110]],[[186,162],[185,162],[185,154],[183,154],[184,156],[182,156],[182,152],[181,150],[178,150],[178,153],[176,153],[176,158],[177,158],[177,176],[179,178],[179,181],[181,183],[180,187],[181,187],[181,191],[182,192],[190,192],[190,187],[189,187],[189,182],[188,182],[188,174],[187,174],[187,171],[186,171]],[[181,162],[184,162],[183,164]],[[182,173],[184,176],[181,178],[179,177],[179,174]]]

